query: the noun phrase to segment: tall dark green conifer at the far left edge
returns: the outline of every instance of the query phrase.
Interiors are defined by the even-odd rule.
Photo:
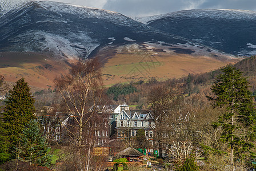
[[[24,78],[18,80],[13,89],[9,91],[5,112],[1,114],[2,128],[5,129],[1,135],[5,137],[6,145],[11,150],[18,145],[23,128],[31,119],[34,119],[34,101]]]

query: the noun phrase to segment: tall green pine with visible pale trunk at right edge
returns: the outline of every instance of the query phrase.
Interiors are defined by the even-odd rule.
[[[216,107],[226,109],[213,126],[221,128],[220,140],[229,145],[233,170],[234,161],[242,161],[253,154],[250,150],[254,148],[255,109],[249,83],[242,72],[230,66],[223,68],[222,72],[211,87],[215,97],[207,97]]]

